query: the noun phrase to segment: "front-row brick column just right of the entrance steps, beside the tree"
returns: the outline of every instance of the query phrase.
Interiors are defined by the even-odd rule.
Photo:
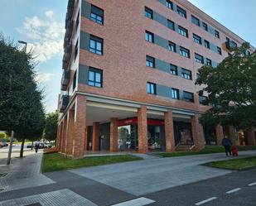
[[[204,129],[199,123],[199,114],[196,113],[191,118],[192,137],[196,150],[201,150],[205,146]]]

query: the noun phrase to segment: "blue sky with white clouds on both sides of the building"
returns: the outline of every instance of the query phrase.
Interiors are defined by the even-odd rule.
[[[256,46],[255,0],[189,1]],[[68,0],[0,0],[0,33],[13,41],[27,41],[28,50],[34,50],[36,80],[45,89],[47,113],[56,110],[60,93],[67,2]]]

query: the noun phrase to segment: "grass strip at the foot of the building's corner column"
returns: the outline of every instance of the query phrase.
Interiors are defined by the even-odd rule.
[[[89,167],[96,165],[107,165],[124,161],[142,160],[138,156],[119,155],[119,156],[99,156],[87,157],[84,159],[72,160],[61,156],[58,153],[44,154],[42,172],[51,172],[58,170],[69,170],[80,167]]]

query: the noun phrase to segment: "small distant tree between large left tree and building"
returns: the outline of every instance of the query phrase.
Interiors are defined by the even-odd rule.
[[[57,125],[58,125],[59,113],[49,113],[46,115],[46,123],[44,129],[44,138],[47,141],[56,140]]]

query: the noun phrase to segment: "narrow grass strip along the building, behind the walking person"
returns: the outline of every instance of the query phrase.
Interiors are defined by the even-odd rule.
[[[256,146],[237,146],[237,148],[238,148],[238,151],[256,150]],[[161,157],[193,156],[193,155],[220,153],[220,152],[225,152],[225,149],[223,146],[205,146],[205,148],[200,151],[160,152],[160,153],[156,153],[156,155]]]

